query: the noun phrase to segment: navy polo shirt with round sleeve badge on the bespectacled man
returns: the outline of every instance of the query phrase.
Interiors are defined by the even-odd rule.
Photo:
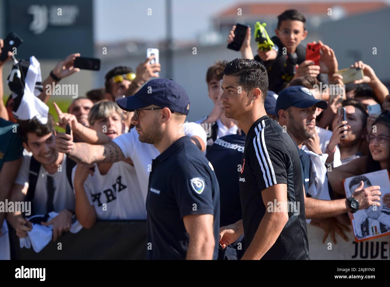
[[[213,214],[213,259],[219,246],[219,186],[202,152],[184,136],[152,160],[146,197],[147,259],[185,259],[190,237],[183,217]]]

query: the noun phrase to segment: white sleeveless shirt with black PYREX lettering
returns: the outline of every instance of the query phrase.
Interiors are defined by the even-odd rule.
[[[72,182],[76,167],[72,171]],[[97,219],[146,219],[144,196],[135,168],[124,161],[114,162],[105,175],[100,174],[95,164],[94,175],[87,177],[84,189]]]

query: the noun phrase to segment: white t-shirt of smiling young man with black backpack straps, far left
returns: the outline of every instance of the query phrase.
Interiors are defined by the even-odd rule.
[[[23,160],[19,169],[18,176],[16,177],[15,183],[25,185],[28,187],[28,175],[30,170],[31,157],[24,155]],[[37,185],[35,186],[35,193],[33,199],[34,212],[35,214],[46,214],[46,201],[47,201],[47,176],[53,178],[54,183],[54,198],[53,207],[55,212],[61,212],[64,209],[74,210],[74,194],[71,185],[66,176],[66,154],[61,163],[61,171],[57,171],[55,174],[50,175],[44,169],[41,164],[39,169]]]

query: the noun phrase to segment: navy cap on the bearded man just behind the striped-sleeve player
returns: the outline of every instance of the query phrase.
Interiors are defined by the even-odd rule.
[[[324,100],[314,98],[308,88],[303,86],[288,87],[279,93],[275,113],[278,114],[279,110],[285,110],[291,106],[305,109],[313,105],[316,105],[320,109],[328,108],[328,103]]]

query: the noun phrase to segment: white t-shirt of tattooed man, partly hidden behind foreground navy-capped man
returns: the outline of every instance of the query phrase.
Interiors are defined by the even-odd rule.
[[[184,123],[184,134],[193,136],[197,135],[204,139],[206,144],[206,132],[196,123]],[[147,189],[149,185],[149,173],[152,170],[152,159],[155,159],[160,152],[152,144],[142,143],[138,139],[139,134],[132,128],[130,132],[122,134],[112,141],[121,148],[123,155],[133,161],[135,172],[137,173],[144,202],[146,202]]]

